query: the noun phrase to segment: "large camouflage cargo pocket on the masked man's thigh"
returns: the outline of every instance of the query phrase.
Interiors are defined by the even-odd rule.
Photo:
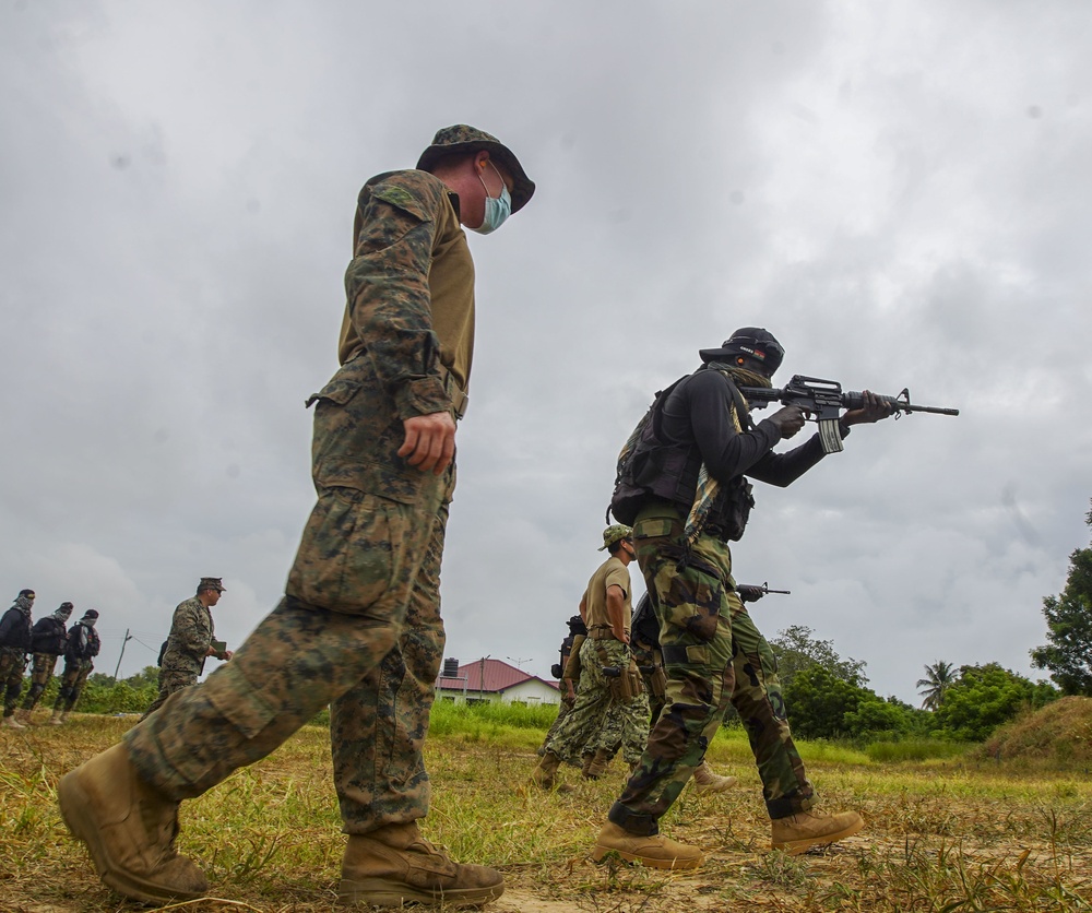
[[[322,493],[304,527],[287,594],[331,612],[366,612],[403,574],[405,510],[346,488]]]

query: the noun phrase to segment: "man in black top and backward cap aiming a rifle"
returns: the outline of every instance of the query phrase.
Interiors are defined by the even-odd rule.
[[[657,396],[632,455],[619,461],[612,510],[633,520],[637,557],[660,620],[666,706],[637,771],[612,806],[592,857],[609,853],[658,868],[693,868],[701,850],[660,833],[660,819],[702,762],[731,701],[750,738],[772,819],[772,845],[804,852],[856,833],[856,813],[810,813],[800,761],[776,678],[776,661],[736,593],[728,542],[752,503],[744,475],[778,486],[823,456],[819,436],[784,454],[772,448],[804,427],[795,406],[753,425],[738,387],[771,387],[784,352],[765,330],[737,330],[702,368]],[[865,391],[840,419],[877,422],[890,407]],[[640,427],[640,426],[639,426]],[[627,444],[627,448],[629,444]],[[707,496],[708,493],[708,496]]]

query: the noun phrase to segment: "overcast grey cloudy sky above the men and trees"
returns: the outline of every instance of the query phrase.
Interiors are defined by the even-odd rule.
[[[1077,2],[0,0],[0,598],[99,609],[122,676],[202,576],[245,638],[313,501],[359,187],[467,122],[538,191],[471,237],[448,656],[549,677],[619,447],[757,324],[779,380],[962,410],[757,486],[761,629],[915,703],[937,660],[1045,677],[1089,542],[1090,38]]]

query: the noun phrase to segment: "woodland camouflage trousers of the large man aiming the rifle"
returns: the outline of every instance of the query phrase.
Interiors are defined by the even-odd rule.
[[[684,520],[669,507],[642,510],[637,557],[660,619],[666,706],[649,746],[612,806],[632,833],[658,832],[733,703],[747,727],[771,818],[811,805],[812,788],[793,744],[776,662],[735,593],[727,544],[702,535],[680,567]]]

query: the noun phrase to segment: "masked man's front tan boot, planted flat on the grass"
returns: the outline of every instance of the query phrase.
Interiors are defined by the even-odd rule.
[[[460,865],[420,835],[417,823],[351,834],[337,898],[343,903],[480,906],[505,892],[505,877],[484,865]]]

